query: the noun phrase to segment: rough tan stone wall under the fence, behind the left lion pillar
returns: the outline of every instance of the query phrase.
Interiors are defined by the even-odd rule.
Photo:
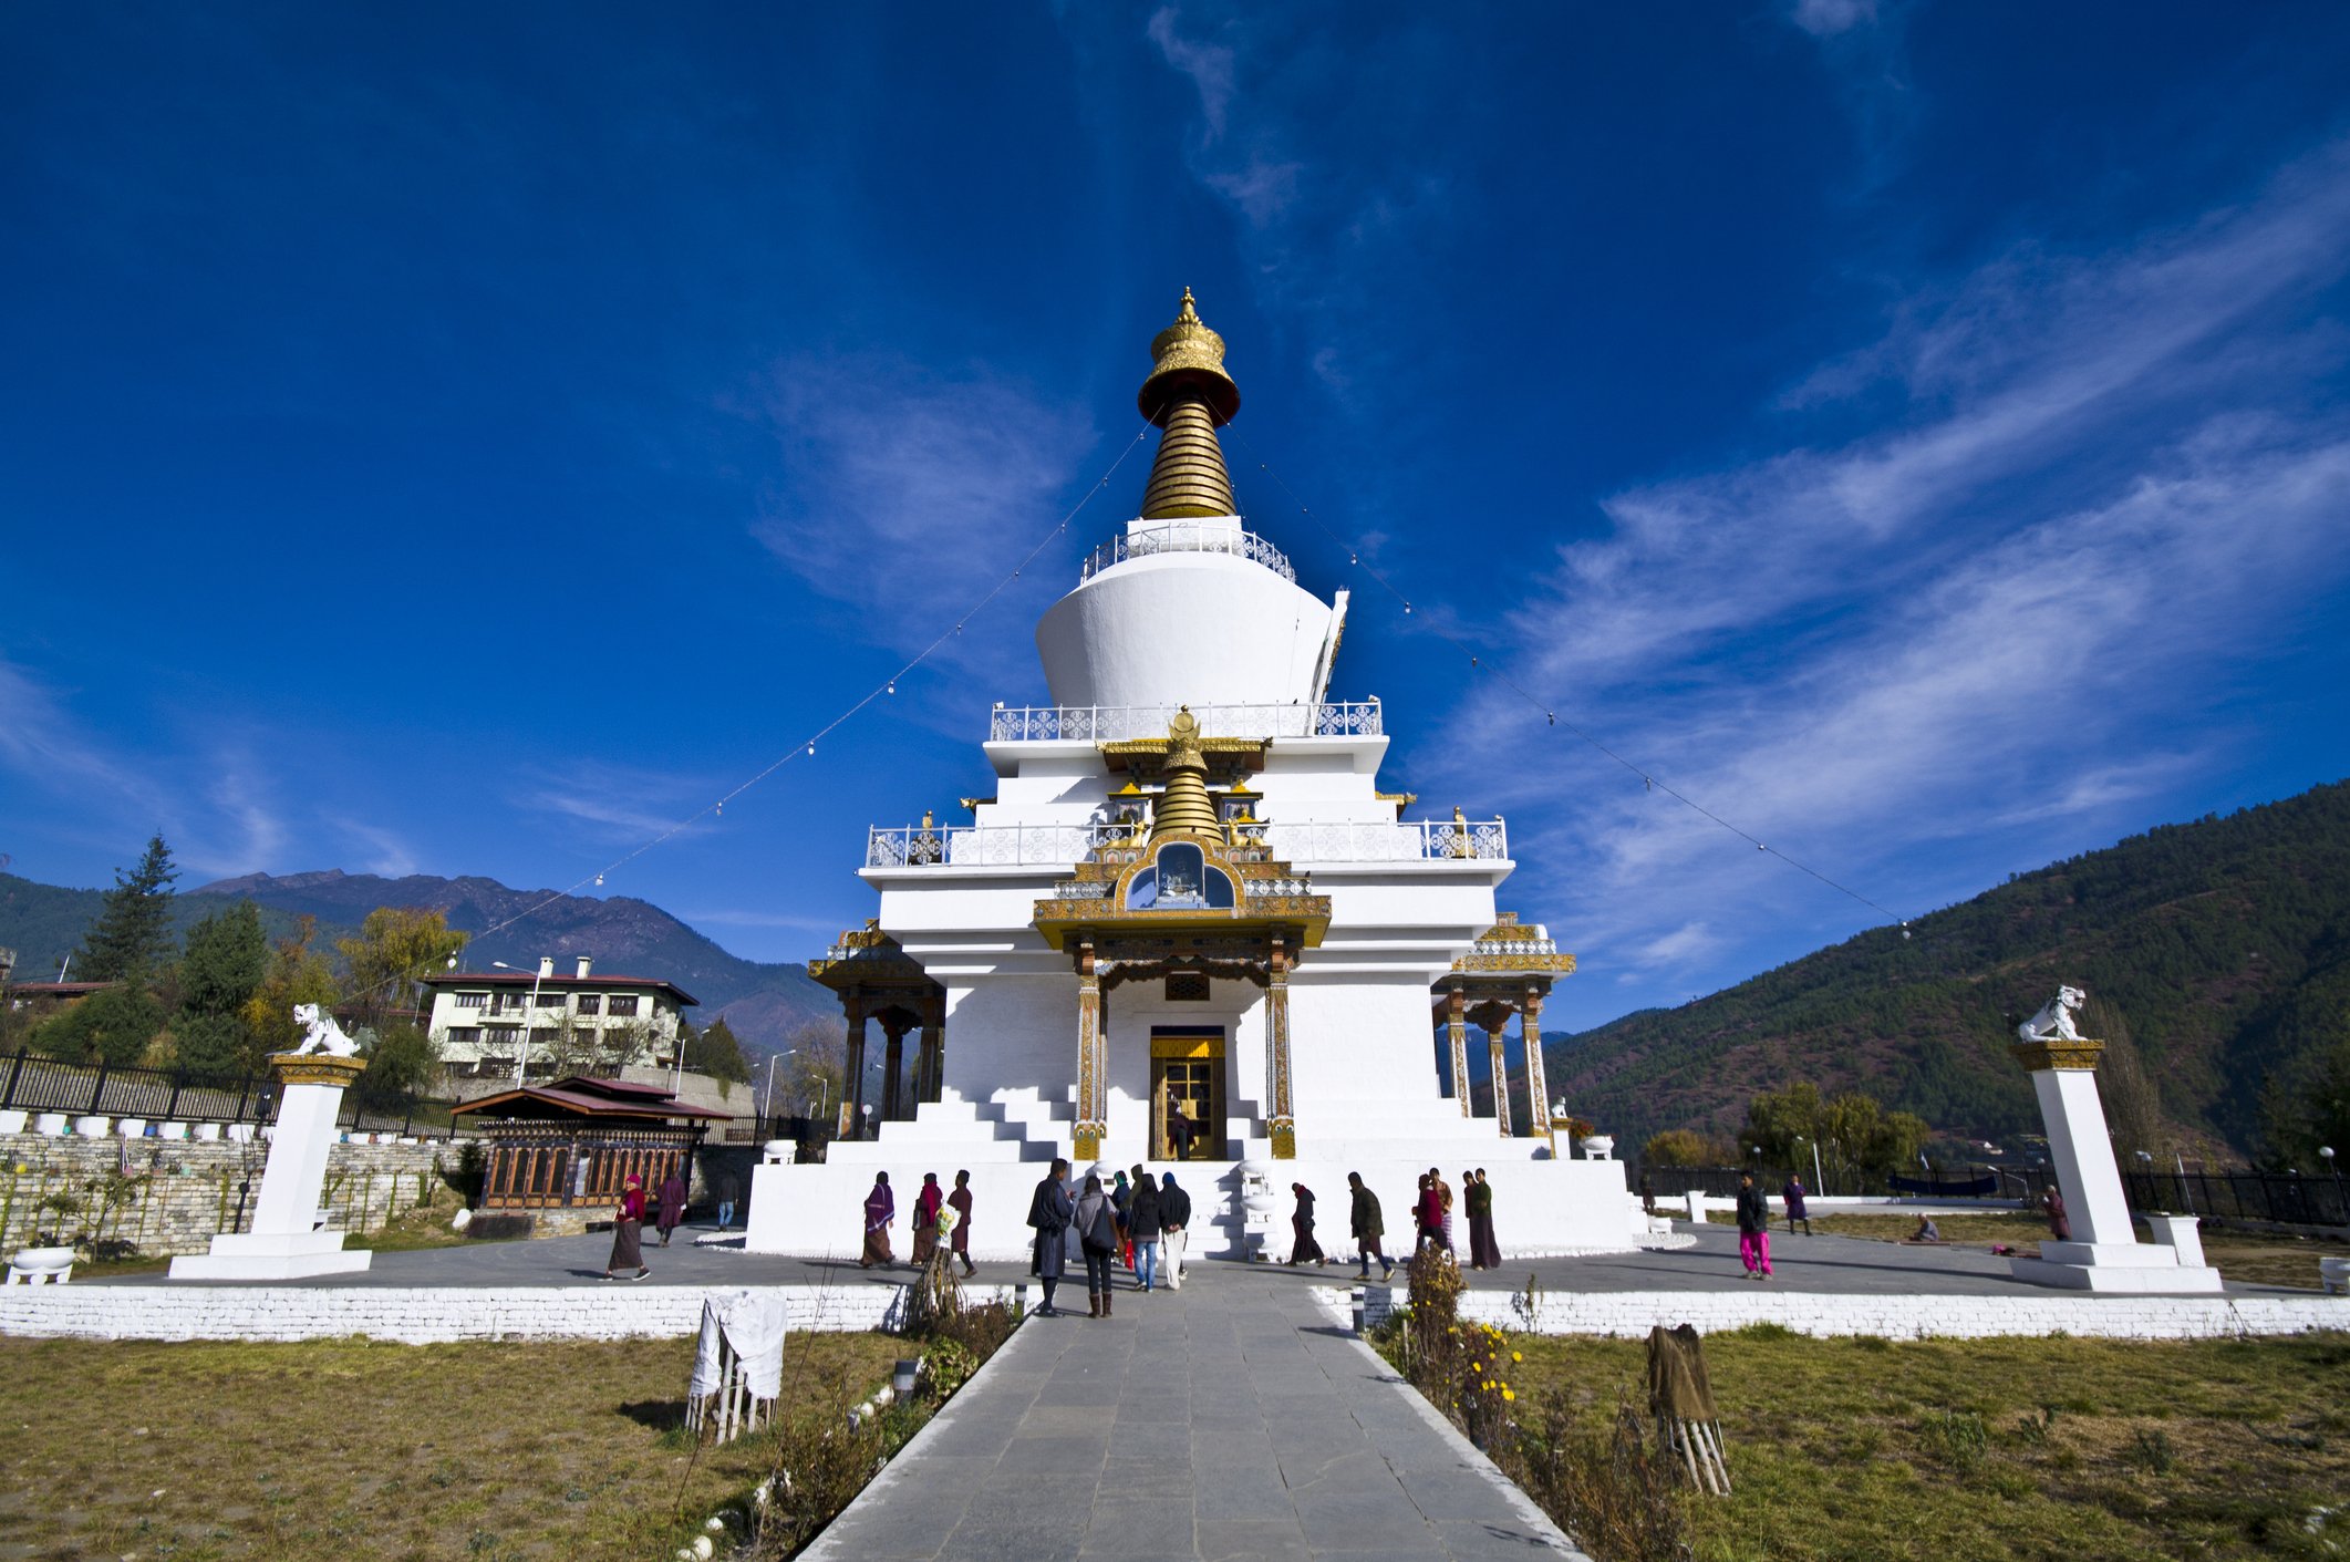
[[[458,1146],[444,1139],[336,1144],[320,1203],[336,1231],[381,1231],[388,1212],[414,1205],[439,1179],[435,1163],[454,1172],[456,1158]],[[141,1254],[204,1252],[214,1236],[251,1226],[266,1160],[268,1146],[258,1142],[0,1135],[0,1252],[31,1245],[35,1231],[82,1226],[94,1226],[101,1243],[132,1243]],[[101,1212],[89,1184],[103,1184],[125,1165],[136,1181]],[[40,1210],[40,1200],[59,1191],[87,1207],[63,1217]]]

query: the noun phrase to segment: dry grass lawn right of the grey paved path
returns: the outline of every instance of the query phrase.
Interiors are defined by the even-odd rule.
[[[1640,1341],[1513,1339],[1520,1407],[1645,1407]],[[1699,1562],[2350,1555],[2350,1334],[2261,1341],[1713,1334],[1734,1496]],[[1607,1562],[1605,1557],[1600,1562]]]

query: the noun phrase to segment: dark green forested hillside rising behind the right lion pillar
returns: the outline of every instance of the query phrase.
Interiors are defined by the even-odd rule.
[[[2350,1038],[2350,782],[2056,862],[1544,1059],[1551,1095],[1633,1142],[1734,1127],[1793,1080],[1995,1139],[2037,1127],[2007,1041],[2059,982],[2120,1017],[2186,1137],[2254,1151],[2263,1092]]]

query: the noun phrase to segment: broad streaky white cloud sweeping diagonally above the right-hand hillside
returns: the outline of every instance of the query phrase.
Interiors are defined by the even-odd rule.
[[[1889,383],[1892,427],[1607,500],[1612,533],[1560,550],[1509,618],[1520,676],[1904,911],[1981,888],[1983,834],[2077,848],[2084,820],[2209,766],[2167,733],[2225,721],[2204,702],[2230,669],[2350,580],[2350,427],[2301,395],[2341,343],[2298,324],[2350,263],[2343,174],[2326,148],[2186,230],[1920,289],[1793,399],[1810,416]],[[1480,742],[1455,728],[1419,759],[1546,730],[1492,691],[1464,721]],[[1574,886],[1570,935],[1619,968],[1694,909],[1819,914],[1817,886],[1638,777],[1574,794],[1565,822],[1556,768],[1457,775],[1532,815],[1520,857]]]

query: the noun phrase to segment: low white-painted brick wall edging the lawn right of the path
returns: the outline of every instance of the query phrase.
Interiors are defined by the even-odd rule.
[[[1349,1292],[1323,1292],[1351,1320]],[[1403,1299],[1401,1287],[1363,1287],[1363,1325]],[[1821,1292],[1544,1292],[1532,1325],[1509,1292],[1464,1292],[1462,1318],[1528,1334],[1647,1337],[1652,1325],[1699,1334],[1777,1322],[1798,1334],[1882,1339],[1990,1339],[2082,1334],[2096,1339],[2235,1339],[2350,1329],[2350,1297],[1835,1297]]]

